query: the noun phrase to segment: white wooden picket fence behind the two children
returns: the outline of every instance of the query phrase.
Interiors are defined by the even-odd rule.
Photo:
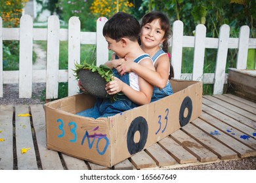
[[[68,82],[68,95],[78,92],[74,76],[74,63],[80,62],[81,44],[96,44],[96,64],[108,61],[107,42],[102,36],[102,27],[106,18],[98,18],[96,32],[80,30],[78,17],[70,18],[68,29],[60,29],[57,16],[50,16],[47,28],[33,28],[29,15],[20,19],[19,28],[5,28],[0,17],[0,97],[3,97],[3,84],[19,84],[19,97],[32,97],[32,83],[46,83],[46,99],[58,98],[58,82]],[[225,74],[228,48],[237,48],[237,69],[246,69],[247,51],[256,48],[256,39],[249,38],[249,27],[240,28],[239,38],[230,38],[230,27],[222,25],[219,39],[206,37],[205,25],[196,26],[196,36],[183,35],[183,23],[173,23],[173,37],[169,39],[175,78],[185,80],[202,80],[203,84],[214,84],[214,94],[223,93],[227,80]],[[20,41],[19,71],[3,71],[3,41]],[[46,70],[32,69],[33,41],[47,41]],[[68,41],[68,69],[58,69],[60,41]],[[182,48],[194,48],[193,73],[181,73]],[[205,48],[217,49],[215,73],[203,73]]]

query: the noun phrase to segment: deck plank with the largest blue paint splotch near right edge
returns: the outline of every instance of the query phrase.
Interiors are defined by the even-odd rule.
[[[205,112],[202,112],[200,119],[213,125],[214,127],[217,127],[223,133],[226,133],[227,135],[234,137],[236,140],[256,150],[256,140],[252,139],[249,135],[245,135],[243,131],[240,131],[226,123],[223,123],[217,118],[213,118],[213,116],[210,116]]]

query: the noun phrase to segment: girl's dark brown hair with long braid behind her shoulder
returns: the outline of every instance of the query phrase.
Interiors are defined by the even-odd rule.
[[[144,25],[153,22],[154,20],[160,19],[160,26],[161,29],[163,29],[163,31],[165,31],[165,35],[163,35],[163,38],[165,38],[165,41],[163,41],[163,51],[164,52],[168,52],[168,40],[169,38],[173,35],[173,32],[171,31],[171,25],[169,22],[168,17],[163,14],[163,12],[160,11],[152,11],[152,12],[148,12],[147,14],[145,14],[142,17],[142,21],[140,24],[140,28],[143,27]],[[173,65],[171,65],[170,62],[170,75],[169,75],[169,79],[174,77],[174,71],[173,71]]]

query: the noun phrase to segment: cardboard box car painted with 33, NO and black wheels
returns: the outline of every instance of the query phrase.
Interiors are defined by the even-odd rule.
[[[47,148],[112,167],[198,118],[202,82],[171,80],[173,95],[108,118],[77,112],[95,97],[80,93],[45,104]]]

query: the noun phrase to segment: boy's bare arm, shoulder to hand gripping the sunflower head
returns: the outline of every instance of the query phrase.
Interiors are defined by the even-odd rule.
[[[146,67],[149,70],[154,69],[154,65],[152,64],[151,59],[143,59],[142,61],[140,61],[139,64],[144,65],[143,67]],[[118,92],[123,92],[131,101],[137,103],[137,105],[144,105],[150,103],[153,86],[146,82],[146,80],[144,80],[143,78],[139,77],[139,87],[140,91],[136,91],[131,88],[131,86],[125,84],[118,78],[115,78],[114,80],[106,84],[106,91],[110,95]]]

